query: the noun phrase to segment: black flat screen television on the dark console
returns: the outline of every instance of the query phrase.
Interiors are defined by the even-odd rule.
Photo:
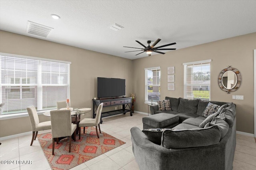
[[[125,79],[97,78],[98,98],[125,96]]]

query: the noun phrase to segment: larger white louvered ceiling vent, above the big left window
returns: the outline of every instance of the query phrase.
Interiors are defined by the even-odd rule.
[[[28,21],[27,33],[34,34],[36,36],[47,37],[50,31],[54,28],[37,24],[35,22]]]

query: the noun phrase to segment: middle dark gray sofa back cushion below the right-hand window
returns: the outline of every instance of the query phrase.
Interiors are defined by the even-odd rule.
[[[196,115],[198,99],[183,99],[180,98],[178,112]]]

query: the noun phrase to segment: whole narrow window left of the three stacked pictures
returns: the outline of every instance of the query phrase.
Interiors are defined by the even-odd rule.
[[[145,69],[145,102],[160,100],[160,67]]]

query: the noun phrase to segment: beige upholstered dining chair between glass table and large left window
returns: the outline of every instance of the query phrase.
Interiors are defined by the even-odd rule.
[[[34,140],[36,140],[38,131],[51,129],[51,121],[39,123],[38,114],[34,106],[27,107],[27,111],[30,118],[30,122],[31,122],[32,132],[33,132],[32,140],[30,143],[30,146],[32,146]],[[35,135],[35,132],[36,132],[36,135]]]

